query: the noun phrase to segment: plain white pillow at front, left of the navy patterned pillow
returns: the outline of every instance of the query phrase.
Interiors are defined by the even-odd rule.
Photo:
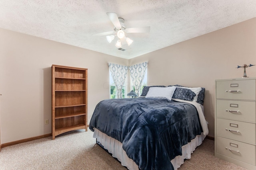
[[[171,87],[150,87],[145,98],[164,98],[172,100],[176,86]]]

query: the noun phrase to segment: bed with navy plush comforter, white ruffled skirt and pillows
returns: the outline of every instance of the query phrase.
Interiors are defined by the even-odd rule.
[[[89,128],[129,170],[175,170],[208,134],[204,90],[146,86],[139,98],[103,100]]]

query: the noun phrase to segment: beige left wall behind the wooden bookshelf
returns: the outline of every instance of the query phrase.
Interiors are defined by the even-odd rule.
[[[1,144],[51,133],[52,64],[88,68],[88,121],[109,98],[108,62],[128,60],[0,29]],[[44,120],[49,124],[44,125]]]

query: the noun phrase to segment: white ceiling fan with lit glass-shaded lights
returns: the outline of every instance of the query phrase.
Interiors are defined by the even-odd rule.
[[[109,43],[117,36],[119,39],[116,42],[116,47],[120,48],[124,44],[130,45],[133,40],[126,37],[125,33],[148,33],[150,31],[150,27],[134,27],[134,28],[126,28],[124,24],[124,19],[123,18],[118,18],[116,13],[109,13],[107,12],[107,15],[112,21],[114,25],[114,30],[113,31],[108,31],[108,32],[103,32],[103,33],[98,33],[94,34],[96,36],[102,36],[102,35],[107,35],[106,38]],[[110,35],[112,34],[112,35]]]

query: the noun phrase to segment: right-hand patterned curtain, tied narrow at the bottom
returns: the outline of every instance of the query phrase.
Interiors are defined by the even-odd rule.
[[[135,88],[135,93],[138,94],[138,96],[140,94],[140,87],[144,79],[147,66],[148,66],[148,62],[144,62],[140,64],[135,64],[129,67],[132,83]]]

